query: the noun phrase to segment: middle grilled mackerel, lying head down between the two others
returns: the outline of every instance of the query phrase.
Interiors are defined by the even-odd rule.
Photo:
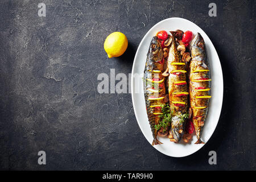
[[[178,143],[184,134],[185,121],[188,117],[188,86],[186,81],[186,63],[177,51],[174,34],[168,55],[168,94],[172,110],[170,132],[174,142]]]

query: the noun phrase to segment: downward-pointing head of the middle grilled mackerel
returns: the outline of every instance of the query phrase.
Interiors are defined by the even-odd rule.
[[[172,117],[172,125],[171,125],[171,133],[172,137],[176,140],[176,143],[180,141],[184,134],[184,123],[183,119],[179,116],[175,115]]]

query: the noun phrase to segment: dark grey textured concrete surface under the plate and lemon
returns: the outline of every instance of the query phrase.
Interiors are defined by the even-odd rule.
[[[38,3],[46,17],[38,16]],[[217,17],[208,16],[210,2]],[[97,75],[131,73],[146,32],[170,17],[200,26],[217,49],[224,102],[209,142],[171,158],[144,138],[130,94],[99,94]],[[256,169],[254,1],[0,2],[0,169]],[[125,55],[104,40],[121,31]],[[47,165],[38,165],[44,150]],[[217,152],[217,165],[208,152]]]

